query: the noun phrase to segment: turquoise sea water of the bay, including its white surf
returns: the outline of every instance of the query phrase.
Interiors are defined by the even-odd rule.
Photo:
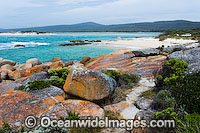
[[[118,48],[97,45],[59,47],[59,44],[69,40],[113,40],[117,37],[153,37],[160,33],[56,33],[55,35],[34,36],[0,36],[0,57],[18,63],[27,59],[38,58],[47,62],[54,57],[64,61],[81,60],[83,56],[96,57],[111,53]],[[25,48],[14,48],[15,45],[25,45]]]

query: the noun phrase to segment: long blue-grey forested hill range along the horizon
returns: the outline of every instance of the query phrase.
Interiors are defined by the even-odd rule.
[[[54,25],[32,28],[4,29],[7,31],[39,31],[39,32],[163,32],[170,30],[187,30],[200,27],[200,22],[185,20],[158,21],[145,23],[130,23],[116,25],[102,25],[94,22],[73,24],[73,25]],[[1,31],[1,29],[0,29]]]

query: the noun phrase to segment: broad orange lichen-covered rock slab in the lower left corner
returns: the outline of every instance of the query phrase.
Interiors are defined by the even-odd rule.
[[[57,87],[24,92],[17,91],[18,86],[15,85],[18,84],[0,84],[0,121],[6,121],[11,127],[20,128],[27,116],[37,117],[56,103],[64,101],[64,92]]]

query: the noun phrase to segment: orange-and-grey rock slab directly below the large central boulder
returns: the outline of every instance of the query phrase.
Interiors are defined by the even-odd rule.
[[[100,108],[99,105],[83,100],[66,100],[60,104],[54,105],[51,109],[43,113],[41,116],[49,116],[52,119],[60,119],[60,117],[68,116],[67,111],[79,114],[79,117],[81,119],[87,119],[87,117],[104,117],[104,110]]]

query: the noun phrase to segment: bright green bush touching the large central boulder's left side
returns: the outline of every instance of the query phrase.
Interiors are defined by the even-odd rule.
[[[62,88],[65,84],[65,80],[70,72],[70,69],[62,68],[62,69],[53,69],[49,72],[49,75],[51,76],[48,81],[51,83],[51,85],[57,86],[59,88]]]

